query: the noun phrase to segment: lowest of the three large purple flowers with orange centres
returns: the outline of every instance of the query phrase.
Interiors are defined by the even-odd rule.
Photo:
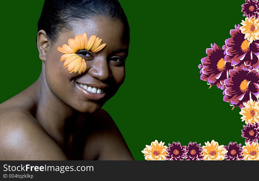
[[[243,108],[243,102],[248,102],[250,98],[257,101],[259,94],[259,73],[255,69],[244,69],[236,67],[229,71],[230,78],[225,79],[223,101],[230,102],[234,107]]]

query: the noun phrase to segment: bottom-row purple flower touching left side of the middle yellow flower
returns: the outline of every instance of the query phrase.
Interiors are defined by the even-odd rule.
[[[203,160],[201,144],[197,145],[197,142],[190,142],[186,148],[186,160]]]

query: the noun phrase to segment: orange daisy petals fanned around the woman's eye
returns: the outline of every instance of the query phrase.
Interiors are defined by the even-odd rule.
[[[84,32],[82,35],[76,35],[75,39],[68,39],[68,44],[63,44],[62,48],[58,47],[58,51],[63,53],[60,57],[60,61],[64,61],[64,68],[68,67],[69,73],[75,72],[81,74],[86,70],[86,63],[82,57],[79,57],[77,52],[79,50],[89,50],[93,53],[101,51],[106,43],[102,44],[102,39],[92,35],[89,39],[87,33]]]

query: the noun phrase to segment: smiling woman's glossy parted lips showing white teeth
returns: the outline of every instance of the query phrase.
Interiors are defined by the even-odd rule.
[[[85,84],[76,83],[77,87],[84,92],[88,99],[99,100],[105,96],[104,89],[100,89],[97,87],[87,86]]]

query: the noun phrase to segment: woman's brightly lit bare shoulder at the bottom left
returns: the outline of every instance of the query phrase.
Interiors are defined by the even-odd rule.
[[[21,107],[0,105],[0,160],[65,160],[60,147]]]

